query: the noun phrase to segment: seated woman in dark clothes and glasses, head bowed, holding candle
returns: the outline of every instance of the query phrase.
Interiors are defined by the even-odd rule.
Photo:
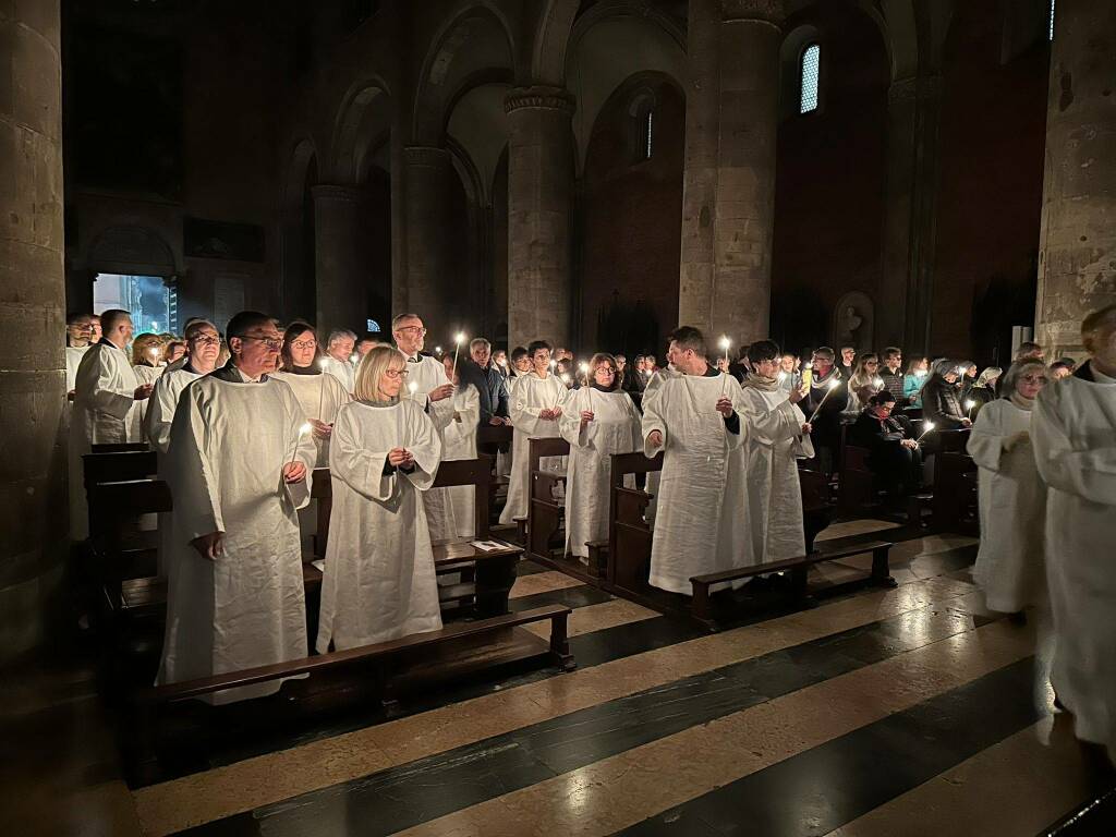
[[[893,500],[916,493],[922,484],[922,450],[906,416],[892,415],[895,396],[883,389],[848,430],[848,443],[868,451],[868,468]]]

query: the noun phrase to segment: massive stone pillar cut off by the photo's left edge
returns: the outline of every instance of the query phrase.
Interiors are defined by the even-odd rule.
[[[58,9],[0,12],[0,662],[44,638],[69,543]]]

